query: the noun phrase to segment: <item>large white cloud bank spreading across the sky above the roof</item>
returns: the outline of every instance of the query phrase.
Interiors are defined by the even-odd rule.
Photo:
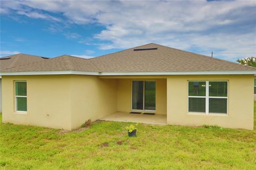
[[[256,1],[16,1],[2,4],[5,11],[15,10],[30,18],[59,22],[59,18],[49,14],[58,13],[63,16],[60,22],[65,24],[103,25],[106,29],[94,35],[99,42],[79,40],[100,49],[130,48],[153,42],[184,50],[196,49],[202,54],[210,55],[213,51],[214,56],[232,61],[239,56],[256,55],[253,17]]]

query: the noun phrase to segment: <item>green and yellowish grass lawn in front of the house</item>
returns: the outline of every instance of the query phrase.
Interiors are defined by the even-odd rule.
[[[256,169],[255,129],[139,124],[129,138],[129,123],[61,134],[0,117],[0,169]]]

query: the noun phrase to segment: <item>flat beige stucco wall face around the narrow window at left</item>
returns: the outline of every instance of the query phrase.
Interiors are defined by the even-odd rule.
[[[70,129],[70,77],[2,76],[3,122]],[[15,113],[15,80],[27,81],[27,114]]]

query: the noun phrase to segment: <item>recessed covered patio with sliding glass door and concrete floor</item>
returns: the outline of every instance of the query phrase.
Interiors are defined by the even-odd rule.
[[[108,79],[115,81],[115,86],[112,87],[116,88],[114,91],[116,111],[102,115],[99,120],[167,124],[166,78],[158,76],[100,77],[102,81]],[[134,114],[134,112],[140,114]]]

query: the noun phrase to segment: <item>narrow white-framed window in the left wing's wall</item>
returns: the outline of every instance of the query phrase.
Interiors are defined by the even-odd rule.
[[[27,81],[14,81],[15,111],[27,112]]]

